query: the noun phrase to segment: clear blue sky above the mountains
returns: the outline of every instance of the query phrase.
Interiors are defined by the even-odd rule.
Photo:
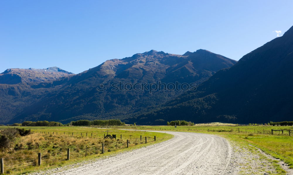
[[[0,72],[80,73],[151,49],[231,59],[293,25],[293,1],[0,1]]]

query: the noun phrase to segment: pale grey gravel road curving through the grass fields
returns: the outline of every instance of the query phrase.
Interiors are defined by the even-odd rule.
[[[152,132],[174,138],[55,174],[233,174],[232,149],[226,139],[203,133]]]

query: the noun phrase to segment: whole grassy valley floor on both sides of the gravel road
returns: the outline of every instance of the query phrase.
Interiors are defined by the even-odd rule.
[[[0,127],[0,129],[3,128],[7,127]],[[215,124],[212,126],[177,126],[177,128],[174,126],[115,126],[112,128],[24,126],[20,128],[31,129],[33,134],[16,138],[10,150],[0,152],[0,158],[4,158],[5,172],[9,174],[25,174],[64,166],[143,147],[173,137],[165,133],[119,130],[123,128],[216,134],[234,140],[243,146],[251,147],[253,145],[260,148],[273,157],[283,160],[290,168],[293,168],[293,136],[289,136],[288,132],[293,130],[292,126],[222,126]],[[274,135],[272,135],[271,129],[284,130],[284,134],[281,131],[274,131]],[[103,139],[107,131],[110,135],[116,134],[117,139]],[[122,135],[122,139],[120,139],[120,135]],[[140,135],[142,135],[142,141],[140,141]],[[154,141],[155,135],[156,141]],[[144,137],[147,137],[147,144],[144,143]],[[129,140],[129,148],[126,146],[127,139]],[[101,154],[102,143],[105,145],[104,154]],[[67,148],[70,148],[69,161],[66,160]],[[42,165],[40,167],[36,166],[38,152],[42,153]],[[86,157],[85,154],[87,154]],[[19,165],[24,167],[19,167]]]

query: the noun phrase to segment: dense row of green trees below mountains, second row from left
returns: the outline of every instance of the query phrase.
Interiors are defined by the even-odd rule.
[[[110,120],[78,120],[71,121],[72,126],[122,126],[125,125],[124,122],[121,122],[118,119]]]

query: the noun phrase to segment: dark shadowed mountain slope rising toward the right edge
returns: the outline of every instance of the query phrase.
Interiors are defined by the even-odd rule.
[[[197,92],[187,92],[132,122],[185,119],[201,122],[265,123],[292,120],[293,27],[282,37],[215,73]]]

